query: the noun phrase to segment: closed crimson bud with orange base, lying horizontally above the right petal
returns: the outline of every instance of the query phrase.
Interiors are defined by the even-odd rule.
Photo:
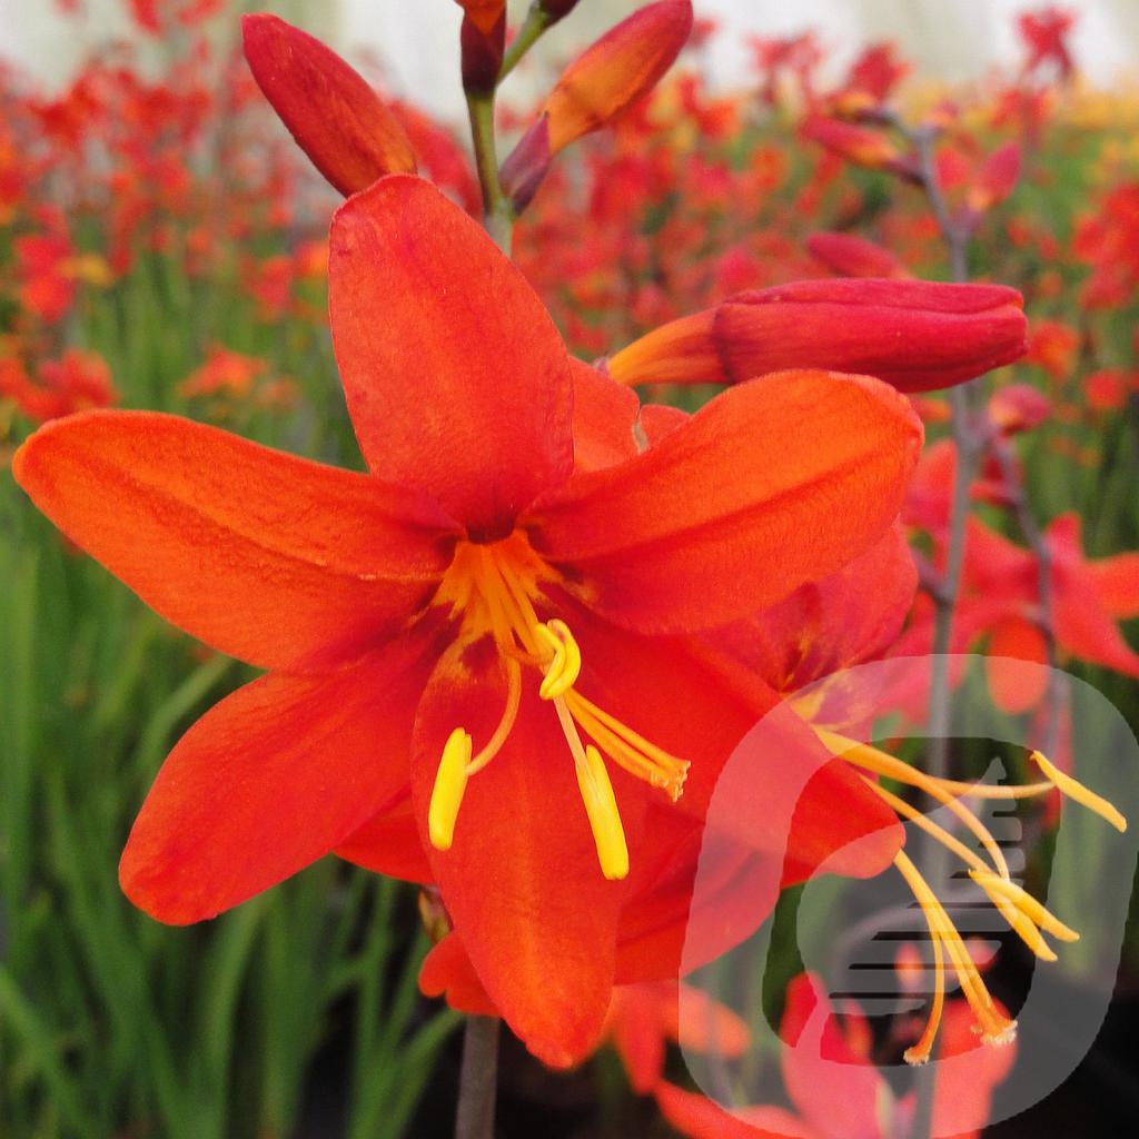
[[[1001,285],[797,281],[664,325],[613,357],[608,370],[622,384],[737,384],[822,368],[924,392],[1023,355],[1022,305]]]

